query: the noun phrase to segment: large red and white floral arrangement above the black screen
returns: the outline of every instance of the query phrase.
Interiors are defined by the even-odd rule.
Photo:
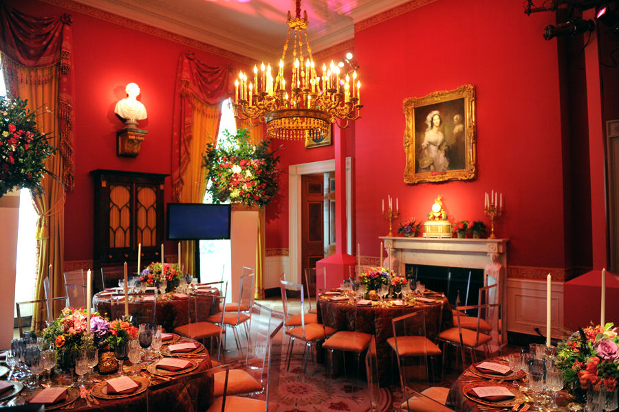
[[[215,203],[229,198],[230,203],[268,205],[279,190],[279,157],[273,156],[267,139],[252,144],[247,129],[237,130],[236,135],[225,130],[224,134],[230,139],[227,145],[206,146],[203,166],[211,183],[206,191]]]

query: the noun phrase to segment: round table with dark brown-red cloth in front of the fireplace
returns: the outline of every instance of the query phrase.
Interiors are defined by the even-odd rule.
[[[369,306],[359,306],[348,300],[338,300],[341,298],[337,296],[320,296],[318,321],[335,330],[365,332],[375,336],[378,378],[381,385],[387,385],[395,379],[391,376],[391,361],[395,356],[392,356],[393,350],[387,343],[387,339],[393,336],[391,319],[423,308],[426,336],[431,340],[435,340],[442,330],[453,326],[451,306],[443,295],[428,293],[425,297],[405,302],[402,306],[395,306],[391,301],[373,301]]]

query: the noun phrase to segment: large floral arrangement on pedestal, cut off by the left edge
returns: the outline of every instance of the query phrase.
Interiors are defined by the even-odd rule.
[[[34,121],[28,100],[0,98],[0,197],[13,187],[42,192],[45,159],[55,150]]]

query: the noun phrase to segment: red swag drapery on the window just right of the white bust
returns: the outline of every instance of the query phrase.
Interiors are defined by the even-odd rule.
[[[228,98],[229,77],[228,67],[205,65],[191,52],[184,52],[179,58],[172,134],[172,196],[175,201],[180,201],[182,175],[189,163],[193,101],[221,103]]]

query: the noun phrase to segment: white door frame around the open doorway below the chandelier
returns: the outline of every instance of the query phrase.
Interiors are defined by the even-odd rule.
[[[335,160],[288,166],[288,262],[287,280],[301,283],[301,176],[335,171]],[[352,253],[351,159],[346,158],[346,249]],[[336,182],[337,184],[337,182]]]

